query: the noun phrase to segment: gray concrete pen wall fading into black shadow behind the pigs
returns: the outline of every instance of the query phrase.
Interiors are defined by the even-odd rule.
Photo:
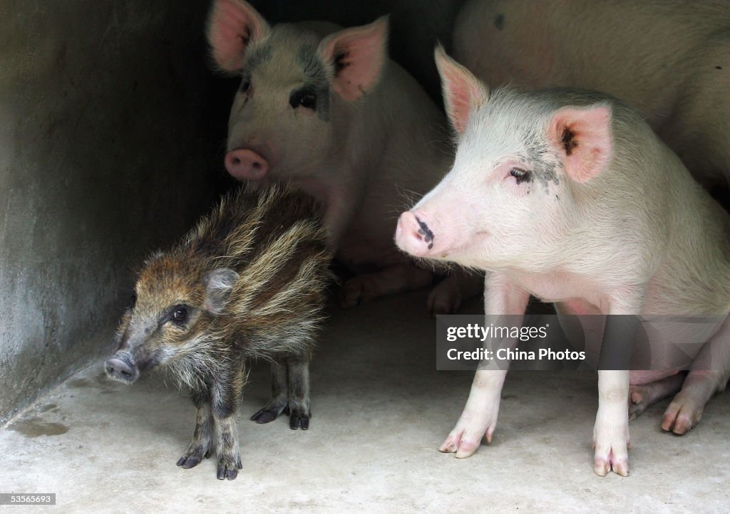
[[[254,1],[272,22],[391,14],[439,99],[461,0]],[[229,185],[237,80],[207,69],[208,0],[0,0],[0,424],[112,349],[132,270]]]

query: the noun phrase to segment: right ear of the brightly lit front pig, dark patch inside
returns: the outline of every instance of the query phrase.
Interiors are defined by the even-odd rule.
[[[553,114],[548,137],[575,182],[588,182],[607,168],[613,152],[610,106],[564,107]]]

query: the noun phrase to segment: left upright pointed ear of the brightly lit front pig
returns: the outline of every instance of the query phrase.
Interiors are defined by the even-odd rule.
[[[486,104],[489,90],[471,71],[450,58],[440,44],[434,50],[434,58],[441,76],[446,114],[456,132],[464,134],[469,114]]]

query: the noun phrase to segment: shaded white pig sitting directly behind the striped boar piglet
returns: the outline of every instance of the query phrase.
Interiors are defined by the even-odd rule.
[[[337,257],[361,273],[344,285],[346,306],[432,283],[431,270],[393,245],[393,225],[453,155],[445,118],[388,58],[387,36],[386,17],[345,29],[272,27],[243,0],[216,1],[208,25],[215,62],[242,77],[226,168],[255,184],[288,182],[325,203]],[[449,277],[429,307],[454,311],[479,290],[480,279]]]

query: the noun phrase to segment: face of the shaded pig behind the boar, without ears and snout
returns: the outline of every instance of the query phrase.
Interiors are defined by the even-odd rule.
[[[329,78],[318,52],[320,36],[300,26],[279,24],[252,52],[270,48],[242,69],[242,86],[228,117],[228,151],[251,149],[268,163],[260,182],[288,182],[320,173],[336,135],[331,130]],[[258,66],[255,66],[258,63]],[[250,85],[245,84],[245,80]]]

